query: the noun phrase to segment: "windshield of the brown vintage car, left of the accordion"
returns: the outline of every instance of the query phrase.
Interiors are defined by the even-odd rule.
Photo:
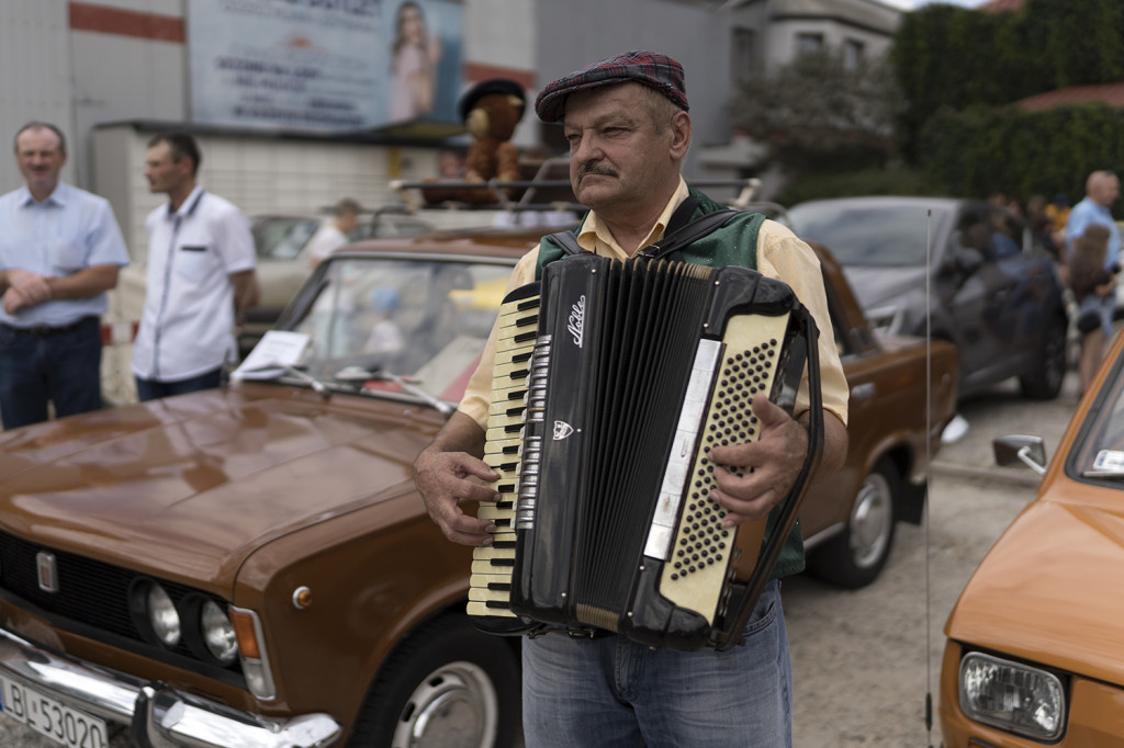
[[[335,258],[298,298],[305,312],[285,325],[309,339],[298,368],[325,384],[371,392],[398,391],[379,378],[400,375],[456,402],[510,274],[507,263]]]

